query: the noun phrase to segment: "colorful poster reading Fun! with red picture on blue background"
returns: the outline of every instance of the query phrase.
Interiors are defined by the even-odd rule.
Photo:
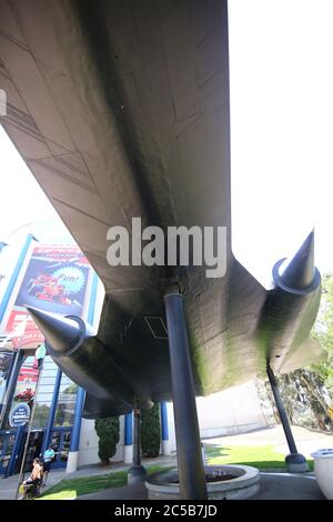
[[[89,263],[78,248],[36,247],[16,307],[82,315]]]

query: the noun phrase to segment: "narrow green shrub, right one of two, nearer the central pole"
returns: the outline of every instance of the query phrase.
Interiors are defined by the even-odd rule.
[[[158,456],[161,444],[160,408],[141,411],[141,450],[144,456]]]

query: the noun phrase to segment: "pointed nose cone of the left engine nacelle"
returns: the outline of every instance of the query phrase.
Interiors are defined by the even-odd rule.
[[[27,309],[48,344],[59,354],[74,349],[83,341],[85,328],[80,318],[74,315],[63,318],[32,307]]]

